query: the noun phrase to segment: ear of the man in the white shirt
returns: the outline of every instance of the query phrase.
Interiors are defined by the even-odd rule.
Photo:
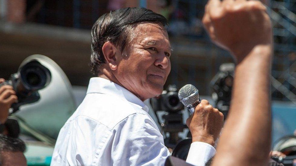
[[[118,65],[118,59],[116,58],[117,48],[114,44],[109,41],[105,42],[102,47],[106,63],[109,65],[111,70],[116,70]]]

